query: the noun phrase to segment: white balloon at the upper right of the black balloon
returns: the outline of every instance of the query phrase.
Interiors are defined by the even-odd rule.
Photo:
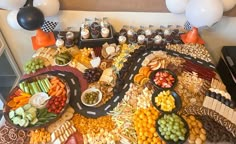
[[[33,5],[39,8],[45,17],[54,16],[59,12],[59,0],[34,0]]]

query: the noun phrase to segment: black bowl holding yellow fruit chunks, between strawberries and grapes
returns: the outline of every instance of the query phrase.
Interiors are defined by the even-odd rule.
[[[171,95],[174,97],[175,99],[175,108],[172,110],[172,111],[164,111],[161,109],[161,106],[157,106],[156,102],[155,102],[155,98],[162,92],[162,91],[167,91],[167,90],[158,90],[158,91],[155,91],[153,94],[152,94],[152,104],[153,106],[159,110],[160,112],[162,113],[173,113],[173,112],[177,112],[181,109],[182,107],[182,101],[181,101],[181,98],[180,96],[173,90],[169,90]]]

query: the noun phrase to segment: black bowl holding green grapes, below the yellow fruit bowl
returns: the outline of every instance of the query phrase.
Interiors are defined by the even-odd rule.
[[[176,114],[176,113],[175,113]],[[181,121],[184,123],[184,127],[186,128],[186,133],[184,135],[184,140],[178,140],[177,142],[174,142],[173,140],[166,140],[164,138],[164,136],[161,135],[161,132],[159,131],[159,124],[158,124],[158,121],[164,117],[164,115],[171,115],[171,114],[162,114],[158,117],[158,119],[156,120],[156,131],[159,135],[159,137],[166,142],[166,144],[183,144],[186,142],[186,140],[188,139],[189,137],[189,126],[188,126],[188,123],[178,114],[176,114],[177,116],[180,117]]]

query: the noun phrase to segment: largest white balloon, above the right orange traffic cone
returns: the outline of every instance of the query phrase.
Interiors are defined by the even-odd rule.
[[[221,0],[190,0],[185,15],[195,27],[211,27],[222,18],[223,4]]]

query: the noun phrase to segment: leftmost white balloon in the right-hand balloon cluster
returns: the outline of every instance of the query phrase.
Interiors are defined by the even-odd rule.
[[[166,7],[168,10],[175,14],[185,12],[189,0],[166,0]]]

